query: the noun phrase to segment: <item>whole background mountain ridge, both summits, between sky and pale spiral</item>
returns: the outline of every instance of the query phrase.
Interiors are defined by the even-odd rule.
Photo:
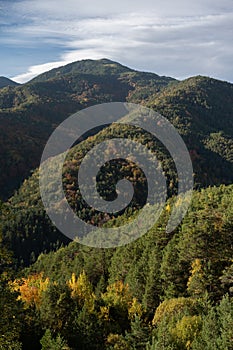
[[[39,165],[43,147],[60,122],[80,109],[113,101],[140,103],[163,114],[184,137],[194,161],[204,164],[214,157],[219,165],[215,177],[205,175],[205,185],[231,182],[231,83],[203,76],[179,82],[108,59],[83,60],[1,89],[0,197],[12,195]]]

